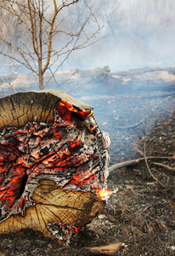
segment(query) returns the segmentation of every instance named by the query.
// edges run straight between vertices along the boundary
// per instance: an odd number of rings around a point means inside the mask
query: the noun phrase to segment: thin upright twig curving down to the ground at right
[[[147,166],[147,169],[150,173],[150,177],[152,177],[156,183],[159,183],[161,185],[161,187],[163,189],[166,189],[166,187],[152,174],[152,172],[150,171],[150,167],[148,164],[148,160],[146,157],[146,136],[147,136],[147,132],[148,132],[148,126],[149,126],[149,116],[150,116],[150,90],[149,90],[149,81],[147,81],[147,87],[148,87],[148,117],[147,117],[147,123],[146,123],[146,131],[145,131],[145,137],[144,137],[144,159],[145,159],[145,163]]]

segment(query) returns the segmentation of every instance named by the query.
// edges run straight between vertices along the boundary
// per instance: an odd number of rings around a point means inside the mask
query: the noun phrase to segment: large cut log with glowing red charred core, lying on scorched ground
[[[69,240],[104,208],[108,136],[60,90],[0,99],[0,233]]]

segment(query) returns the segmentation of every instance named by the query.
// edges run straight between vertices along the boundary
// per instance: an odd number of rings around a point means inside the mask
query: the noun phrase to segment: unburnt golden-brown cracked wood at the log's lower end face
[[[36,205],[26,209],[25,216],[13,215],[0,223],[0,233],[31,228],[53,237],[47,224],[61,222],[79,229],[104,208],[104,201],[91,192],[62,190],[49,180],[40,183],[32,196]]]

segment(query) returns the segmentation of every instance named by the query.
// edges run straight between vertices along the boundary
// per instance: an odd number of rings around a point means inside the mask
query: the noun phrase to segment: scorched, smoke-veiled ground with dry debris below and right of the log
[[[175,97],[173,94],[150,96],[146,137],[146,94],[144,97],[137,95],[134,100],[125,95],[117,101],[114,98],[100,101],[101,105],[110,106],[101,119],[97,114],[102,130],[110,132],[110,165],[143,157],[145,140],[146,155],[157,157],[149,160],[150,171],[164,188],[148,177],[144,161],[123,167],[110,173],[108,178],[109,188],[118,188],[118,192],[110,196],[101,215],[72,237],[69,247],[60,246],[58,241],[33,230],[22,230],[18,234],[0,235],[1,256],[93,255],[87,247],[117,241],[125,246],[116,255],[175,255]],[[122,116],[121,104],[124,110],[126,108]],[[97,113],[101,112],[98,104],[94,108]],[[109,112],[113,113],[112,118]],[[168,171],[155,162],[172,169]]]

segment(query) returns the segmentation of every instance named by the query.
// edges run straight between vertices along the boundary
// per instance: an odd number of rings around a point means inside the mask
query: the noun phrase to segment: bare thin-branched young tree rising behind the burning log
[[[14,61],[37,75],[40,90],[44,88],[47,70],[54,75],[72,51],[93,44],[93,38],[100,31],[93,8],[86,0],[52,0],[49,3],[46,0],[2,0],[0,4],[3,17],[0,54],[10,57],[10,49]],[[82,20],[77,15],[76,4],[84,8]],[[15,24],[14,36],[7,17]],[[58,61],[53,71],[51,67]]]

